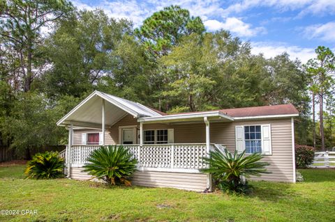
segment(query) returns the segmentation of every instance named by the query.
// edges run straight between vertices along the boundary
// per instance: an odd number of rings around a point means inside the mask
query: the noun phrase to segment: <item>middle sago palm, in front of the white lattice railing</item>
[[[123,146],[108,145],[94,150],[88,157],[88,164],[84,165],[84,172],[94,175],[108,184],[126,184],[135,171],[137,160]]]

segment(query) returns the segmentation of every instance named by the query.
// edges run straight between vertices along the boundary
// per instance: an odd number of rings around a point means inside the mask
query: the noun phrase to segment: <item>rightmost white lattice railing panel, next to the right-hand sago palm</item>
[[[205,168],[202,157],[206,157],[206,145],[174,145],[174,168]]]

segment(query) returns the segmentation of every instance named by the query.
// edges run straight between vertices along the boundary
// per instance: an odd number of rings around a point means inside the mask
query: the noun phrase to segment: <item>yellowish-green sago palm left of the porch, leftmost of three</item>
[[[58,152],[47,151],[37,153],[31,161],[28,161],[24,171],[27,178],[55,179],[64,177],[64,159],[61,159]]]

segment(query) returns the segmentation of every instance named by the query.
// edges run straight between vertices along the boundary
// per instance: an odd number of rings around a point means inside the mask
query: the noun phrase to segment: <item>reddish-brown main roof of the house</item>
[[[149,107],[150,108],[150,107]],[[152,108],[150,108],[152,109]],[[174,115],[174,114],[187,114],[187,113],[163,113],[156,109],[152,109],[161,115]],[[246,116],[272,116],[272,115],[288,115],[288,114],[298,114],[299,111],[295,109],[295,106],[292,104],[281,104],[281,105],[271,105],[271,106],[253,106],[253,107],[244,107],[244,108],[234,108],[234,109],[218,109],[211,111],[220,111],[223,114],[227,114],[231,117],[246,117]],[[209,111],[195,111],[188,113],[206,113]]]

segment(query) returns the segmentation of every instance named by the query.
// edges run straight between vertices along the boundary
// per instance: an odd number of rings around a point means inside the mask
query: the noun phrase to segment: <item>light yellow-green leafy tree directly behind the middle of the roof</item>
[[[163,73],[170,82],[162,95],[174,106],[172,112],[210,109],[211,92],[216,85],[211,76],[217,63],[211,54],[209,35],[201,42],[199,35],[192,34],[161,58]]]

